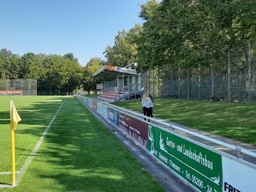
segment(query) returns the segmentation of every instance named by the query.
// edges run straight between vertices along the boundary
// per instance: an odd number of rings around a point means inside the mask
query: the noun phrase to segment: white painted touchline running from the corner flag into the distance
[[[66,97],[67,99],[67,97]],[[64,102],[66,101],[66,99],[64,100]],[[23,166],[20,169],[20,174],[17,175],[17,180],[16,180],[16,186],[18,186],[20,184],[20,181],[23,177],[23,175],[25,174],[26,170],[29,168],[30,163],[32,162],[33,158],[35,157],[35,154],[37,153],[38,149],[40,148],[44,137],[46,136],[49,128],[51,127],[52,123],[54,122],[56,116],[58,115],[59,111],[61,110],[62,105],[64,104],[64,102],[62,102],[61,106],[59,107],[58,111],[55,113],[55,115],[52,117],[52,120],[49,122],[47,128],[44,130],[44,133],[41,135],[38,143],[35,145],[35,148],[33,149],[33,151],[31,152],[31,154],[29,155],[29,157],[27,158],[27,160],[25,161],[25,163],[23,164]],[[15,187],[16,187],[15,186]],[[12,185],[0,185],[0,188],[11,188],[13,187]]]

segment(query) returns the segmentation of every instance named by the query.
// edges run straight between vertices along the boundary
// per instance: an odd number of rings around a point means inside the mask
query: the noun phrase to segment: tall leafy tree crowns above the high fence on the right
[[[148,0],[140,7],[143,27],[118,32],[105,51],[111,64],[207,65],[212,50],[255,37],[255,0]]]

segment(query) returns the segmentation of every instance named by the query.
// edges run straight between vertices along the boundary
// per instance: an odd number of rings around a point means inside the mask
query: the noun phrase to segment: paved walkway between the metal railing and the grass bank
[[[130,110],[130,109],[128,109],[128,110]],[[120,111],[122,111],[122,110],[120,110]],[[130,111],[132,111],[132,110],[130,110]],[[134,112],[138,113],[137,111],[134,111]],[[140,114],[143,114],[143,113],[140,113]],[[136,116],[136,115],[134,115],[134,114],[131,114],[131,115]],[[137,117],[140,118],[140,119],[143,119],[143,118],[140,117],[140,116],[137,116]],[[164,119],[160,119],[160,118],[155,118],[155,119],[158,119],[158,120],[160,120],[160,121],[163,121],[163,122],[166,122],[166,123],[170,123],[170,124],[173,124],[173,125],[177,125],[177,126],[179,126],[180,128],[184,128],[184,129],[187,129],[187,130],[189,130],[189,131],[193,131],[193,132],[195,132],[195,133],[198,133],[198,134],[201,134],[201,135],[204,135],[204,136],[207,136],[207,137],[211,137],[211,138],[213,138],[213,139],[215,139],[215,140],[219,140],[219,141],[222,141],[222,142],[225,142],[225,143],[229,143],[229,144],[231,144],[231,145],[236,145],[236,146],[245,148],[245,149],[247,149],[247,150],[256,152],[256,146],[253,146],[253,145],[250,145],[250,144],[247,144],[247,143],[243,143],[243,142],[240,142],[240,141],[232,140],[232,139],[229,139],[229,138],[227,138],[227,137],[222,137],[222,136],[219,136],[219,135],[216,135],[216,134],[208,133],[208,132],[206,132],[206,131],[201,131],[201,130],[198,130],[198,129],[195,129],[195,128],[191,128],[191,127],[188,127],[188,126],[185,126],[185,125],[181,125],[181,124],[179,124],[179,123],[167,121],[167,120],[164,120]],[[160,123],[157,123],[157,122],[154,122],[154,124],[159,125],[159,126],[161,126],[161,127],[163,127],[163,128],[166,128],[166,129],[170,129],[168,126],[165,126],[165,125],[160,124]],[[191,138],[191,139],[193,139],[193,140],[196,140],[196,141],[198,141],[198,142],[200,142],[200,143],[204,143],[205,145],[211,146],[211,147],[216,148],[216,149],[218,149],[218,150],[220,150],[220,151],[224,151],[224,152],[226,152],[226,153],[228,153],[228,154],[231,154],[231,155],[237,157],[237,152],[236,152],[236,151],[233,151],[233,150],[231,150],[231,149],[229,149],[229,148],[225,148],[225,147],[223,147],[223,146],[221,146],[221,145],[217,145],[217,144],[215,144],[215,143],[212,143],[212,142],[203,140],[203,139],[201,139],[201,138],[192,136],[192,135],[190,135],[190,134],[186,134],[186,133],[184,133],[184,132],[182,132],[182,131],[175,130],[175,132],[178,133],[178,134],[181,134],[181,135],[183,135],[183,136],[189,137],[189,138]],[[250,156],[247,156],[247,155],[243,155],[243,159],[246,160],[246,161],[248,161],[248,162],[250,162],[250,163],[256,164],[256,158],[254,158],[254,157],[250,157]]]

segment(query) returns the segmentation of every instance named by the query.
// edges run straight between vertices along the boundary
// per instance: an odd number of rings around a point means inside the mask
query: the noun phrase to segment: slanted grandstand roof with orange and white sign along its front
[[[116,67],[112,65],[104,65],[95,73],[93,73],[93,77],[97,77],[100,79],[116,79],[117,76],[132,76],[137,75],[136,70],[124,68],[124,67]]]

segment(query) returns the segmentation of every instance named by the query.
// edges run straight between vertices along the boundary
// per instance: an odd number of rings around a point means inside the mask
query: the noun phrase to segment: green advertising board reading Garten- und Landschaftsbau
[[[222,191],[220,154],[152,125],[148,151],[201,191]]]

